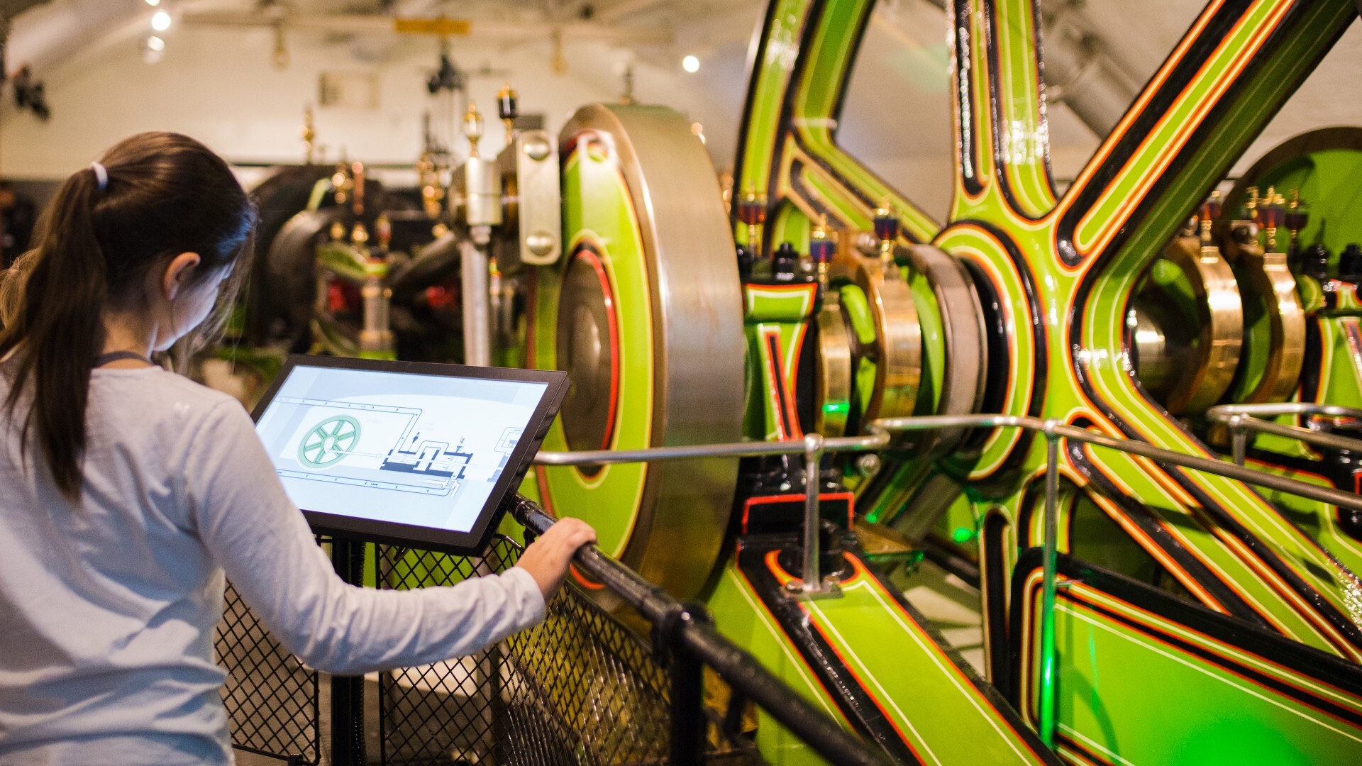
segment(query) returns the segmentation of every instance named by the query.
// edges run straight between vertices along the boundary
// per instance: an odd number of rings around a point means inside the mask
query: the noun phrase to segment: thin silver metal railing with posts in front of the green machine
[[[1254,405],[1257,406],[1257,405]],[[1347,408],[1329,408],[1321,414],[1335,414]],[[1343,417],[1351,413],[1362,416],[1359,410],[1347,410]],[[1267,424],[1275,425],[1275,424]],[[840,436],[824,439],[817,433],[810,433],[802,440],[783,442],[735,442],[726,444],[686,444],[677,447],[648,447],[643,450],[590,450],[577,453],[539,453],[534,462],[539,465],[603,465],[629,463],[650,461],[670,461],[703,457],[759,457],[759,455],[795,455],[804,454],[805,476],[812,478],[813,491],[805,492],[804,518],[804,571],[802,589],[805,593],[825,592],[821,572],[819,571],[819,493],[817,476],[819,461],[825,453],[865,453],[883,450],[889,446],[893,433],[907,431],[938,431],[945,428],[1023,428],[1038,431],[1046,438],[1045,450],[1045,532],[1043,532],[1043,568],[1041,579],[1041,684],[1039,684],[1039,726],[1038,733],[1047,744],[1054,741],[1054,691],[1056,691],[1056,653],[1054,653],[1054,570],[1058,556],[1060,511],[1058,511],[1058,462],[1060,439],[1072,439],[1095,447],[1106,447],[1118,453],[1129,453],[1148,458],[1160,465],[1175,465],[1205,473],[1237,478],[1245,484],[1267,487],[1279,492],[1323,500],[1335,506],[1362,511],[1362,496],[1351,492],[1342,492],[1327,487],[1317,487],[1305,481],[1287,478],[1273,473],[1254,470],[1242,465],[1230,463],[1200,455],[1188,455],[1155,447],[1147,442],[1120,439],[1106,436],[1096,431],[1064,425],[1057,418],[1039,418],[1012,414],[932,414],[914,417],[887,417],[872,421],[866,425],[866,436]],[[1287,427],[1282,427],[1287,428]],[[1299,429],[1306,431],[1306,429]],[[1308,433],[1316,433],[1306,431]],[[1340,439],[1336,438],[1335,439]],[[1355,448],[1355,447],[1354,447]],[[599,555],[599,552],[597,552]],[[602,559],[605,559],[602,556]],[[610,562],[610,559],[605,559]],[[621,564],[616,563],[620,568]],[[632,577],[632,571],[624,570]],[[652,587],[652,586],[648,586]],[[712,631],[712,628],[711,628]],[[722,675],[722,673],[720,673]],[[801,731],[801,729],[794,729]],[[810,743],[812,744],[812,743]],[[820,751],[821,752],[821,751]]]

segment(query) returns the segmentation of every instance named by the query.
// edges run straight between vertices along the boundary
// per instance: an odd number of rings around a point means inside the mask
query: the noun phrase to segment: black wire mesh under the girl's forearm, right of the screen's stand
[[[454,585],[518,556],[504,537],[484,559],[380,545],[379,583]],[[670,676],[647,643],[572,586],[535,628],[462,661],[383,673],[380,694],[383,756],[392,766],[614,766],[667,756]]]

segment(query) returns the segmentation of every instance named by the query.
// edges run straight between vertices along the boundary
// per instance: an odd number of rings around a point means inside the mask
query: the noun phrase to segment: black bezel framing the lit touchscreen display
[[[336,369],[360,369],[368,372],[396,372],[407,375],[432,375],[439,378],[474,378],[481,380],[505,380],[512,383],[543,383],[546,384],[543,397],[526,423],[524,433],[511,450],[507,458],[507,469],[501,472],[497,482],[492,487],[486,504],[478,512],[478,521],[469,532],[455,532],[433,526],[418,526],[410,523],[387,522],[357,517],[343,517],[298,508],[308,519],[312,530],[330,537],[361,540],[365,542],[384,542],[391,545],[406,545],[459,556],[479,556],[488,545],[492,533],[496,532],[503,512],[503,499],[507,492],[515,491],[524,478],[534,454],[539,451],[539,444],[549,433],[553,418],[563,406],[563,397],[568,393],[568,373],[548,369],[522,369],[513,367],[467,367],[462,364],[433,364],[424,361],[390,361],[376,358],[331,357],[311,354],[289,354],[279,368],[274,382],[260,397],[260,402],[251,412],[251,420],[259,423],[260,416],[274,402],[279,387],[287,380],[296,367],[328,367]]]

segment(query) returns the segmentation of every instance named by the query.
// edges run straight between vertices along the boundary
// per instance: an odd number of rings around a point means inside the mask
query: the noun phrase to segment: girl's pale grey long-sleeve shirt
[[[8,391],[0,376],[0,402]],[[407,592],[343,583],[221,393],[95,369],[86,421],[72,506],[37,444],[20,457],[22,417],[0,413],[0,766],[230,763],[212,658],[223,572],[334,673],[448,660],[543,617],[520,568]]]

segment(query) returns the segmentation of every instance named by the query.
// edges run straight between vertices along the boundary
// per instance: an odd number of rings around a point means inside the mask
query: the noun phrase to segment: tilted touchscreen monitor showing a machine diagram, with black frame
[[[253,417],[317,532],[478,553],[567,375],[293,356]]]

